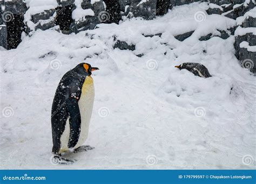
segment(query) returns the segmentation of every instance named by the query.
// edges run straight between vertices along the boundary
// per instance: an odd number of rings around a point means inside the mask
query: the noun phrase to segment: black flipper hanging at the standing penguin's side
[[[75,147],[80,136],[81,130],[81,115],[78,106],[78,99],[76,97],[70,97],[67,101],[67,108],[69,112],[69,124],[70,124],[70,136],[68,147]]]

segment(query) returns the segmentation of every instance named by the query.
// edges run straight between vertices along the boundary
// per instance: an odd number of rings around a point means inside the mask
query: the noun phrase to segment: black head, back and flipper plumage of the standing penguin
[[[79,109],[77,109],[77,104],[81,95],[81,89],[85,78],[90,76],[91,72],[96,69],[98,68],[91,67],[88,63],[80,63],[75,68],[65,73],[58,84],[51,110],[52,152],[54,154],[59,153],[60,137],[64,132],[68,117],[72,116],[70,121],[73,121],[72,124],[74,126],[80,124],[80,112]],[[78,130],[79,126],[74,127],[74,129]],[[76,138],[73,138],[73,140],[76,140],[79,134],[72,134],[71,136],[76,136]],[[76,141],[73,141],[70,143],[70,147],[73,147],[75,144]]]

